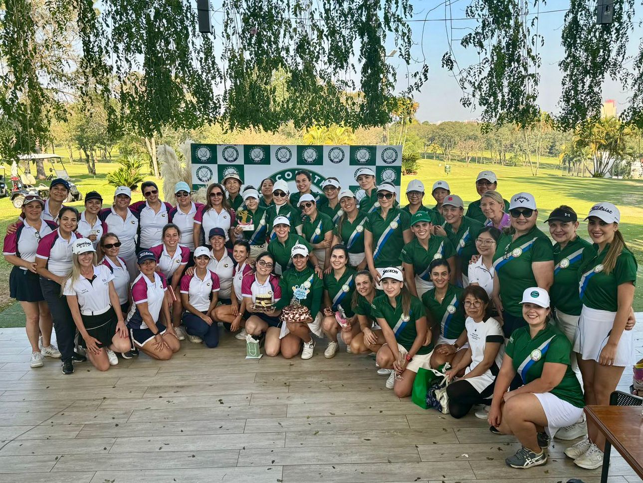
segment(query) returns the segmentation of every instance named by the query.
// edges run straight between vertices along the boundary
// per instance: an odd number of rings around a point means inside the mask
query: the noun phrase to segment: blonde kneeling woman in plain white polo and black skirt
[[[93,243],[76,240],[72,247],[71,274],[64,283],[73,321],[84,340],[89,361],[100,371],[118,364],[116,352],[129,350],[129,334],[123,322],[114,275],[98,265]]]

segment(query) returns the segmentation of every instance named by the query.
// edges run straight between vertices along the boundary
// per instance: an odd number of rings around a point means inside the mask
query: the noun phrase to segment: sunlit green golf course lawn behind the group
[[[536,196],[539,207],[539,220],[545,220],[552,209],[561,204],[570,205],[577,213],[584,215],[590,207],[598,201],[609,201],[617,205],[621,212],[622,230],[629,248],[634,252],[639,262],[638,287],[643,286],[643,181],[641,180],[601,180],[590,178],[570,178],[560,176],[560,169],[555,160],[546,159],[541,164],[540,175],[536,178],[531,176],[529,167],[492,166],[489,164],[471,163],[466,166],[463,162],[450,162],[451,173],[444,174],[444,162],[437,160],[421,160],[420,168],[415,176],[403,176],[402,192],[406,185],[413,178],[418,178],[430,191],[433,182],[439,179],[446,179],[451,186],[451,193],[462,196],[467,202],[478,199],[475,190],[475,177],[483,169],[493,169],[498,175],[498,191],[505,198],[519,191],[529,191]],[[82,193],[96,190],[104,198],[105,206],[109,205],[114,187],[107,184],[105,175],[116,169],[118,164],[98,163],[96,164],[96,176],[87,175],[87,168],[84,164],[67,164],[68,173],[78,185]],[[157,180],[162,189],[163,180]],[[135,192],[133,201],[143,199],[140,192]],[[406,197],[403,195],[403,204],[406,204]],[[424,198],[425,205],[433,205],[433,198],[427,194]],[[82,207],[82,202],[72,204]],[[8,198],[0,199],[0,233],[5,233],[6,226],[17,218],[18,211],[14,209]],[[545,225],[543,224],[543,229]],[[587,237],[584,223],[581,223],[581,236]],[[4,238],[4,236],[3,236]],[[8,296],[8,280],[10,265],[4,259],[0,260],[0,310],[12,304]],[[643,311],[643,289],[637,289],[634,308]],[[19,305],[12,307],[0,314],[0,327],[11,327],[24,325],[24,316]]]

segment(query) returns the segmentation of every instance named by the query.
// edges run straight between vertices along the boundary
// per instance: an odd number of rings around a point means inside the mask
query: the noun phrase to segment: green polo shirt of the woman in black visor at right
[[[575,290],[578,283],[578,270],[581,268],[583,251],[591,248],[592,243],[576,236],[561,249],[554,243],[554,284],[549,289],[552,307],[570,316],[581,315],[581,298]]]

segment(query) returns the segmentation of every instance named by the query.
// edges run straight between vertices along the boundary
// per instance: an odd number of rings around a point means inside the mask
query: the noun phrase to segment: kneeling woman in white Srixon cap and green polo
[[[426,343],[426,314],[419,298],[404,287],[402,270],[382,270],[384,295],[374,299],[372,314],[382,328],[386,344],[377,351],[377,364],[393,369],[386,388],[397,397],[407,397],[419,368],[429,368],[433,345]],[[425,345],[426,344],[426,345]]]

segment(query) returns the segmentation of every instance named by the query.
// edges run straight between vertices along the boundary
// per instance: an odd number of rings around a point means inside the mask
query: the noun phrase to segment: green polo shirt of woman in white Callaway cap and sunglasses
[[[509,314],[522,318],[522,294],[525,289],[538,285],[531,264],[553,260],[552,242],[535,226],[516,240],[511,242],[511,238],[506,238],[505,243],[498,245],[493,267],[500,281],[503,308]]]

